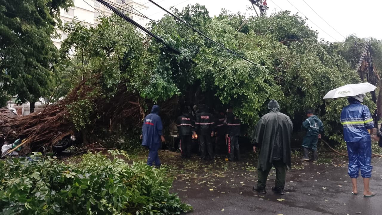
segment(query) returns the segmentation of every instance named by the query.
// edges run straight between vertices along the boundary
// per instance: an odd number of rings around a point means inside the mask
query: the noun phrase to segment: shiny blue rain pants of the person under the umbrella
[[[362,178],[370,178],[373,166],[371,166],[371,138],[362,138],[359,142],[346,142],[349,155],[349,176],[358,178],[361,170]]]

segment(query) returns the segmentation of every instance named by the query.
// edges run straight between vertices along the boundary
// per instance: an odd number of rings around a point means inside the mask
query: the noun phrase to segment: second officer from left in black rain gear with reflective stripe
[[[201,105],[199,112],[196,114],[194,135],[197,134],[199,137],[201,159],[204,160],[214,159],[214,149],[212,147],[211,138],[214,136],[214,124],[214,116],[207,112],[205,105]]]

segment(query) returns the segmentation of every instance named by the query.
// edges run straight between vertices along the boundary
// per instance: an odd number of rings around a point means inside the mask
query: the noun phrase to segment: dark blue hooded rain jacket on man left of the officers
[[[154,105],[151,114],[144,118],[142,125],[142,146],[150,150],[159,150],[161,147],[160,136],[163,135],[162,119],[160,119],[159,106]]]

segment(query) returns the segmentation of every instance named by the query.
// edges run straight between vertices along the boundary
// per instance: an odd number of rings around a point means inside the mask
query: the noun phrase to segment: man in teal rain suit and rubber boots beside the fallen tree
[[[304,157],[301,161],[309,161],[309,150],[313,151],[313,161],[317,161],[317,143],[324,131],[324,124],[317,116],[314,116],[313,110],[309,109],[305,114],[308,118],[301,126],[301,129],[306,130],[303,139]]]

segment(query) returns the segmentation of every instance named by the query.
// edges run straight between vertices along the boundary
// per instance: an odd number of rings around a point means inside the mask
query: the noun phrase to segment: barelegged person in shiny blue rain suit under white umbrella
[[[371,137],[367,129],[374,128],[374,121],[367,106],[361,104],[365,94],[348,98],[349,105],[342,109],[341,123],[343,137],[348,147],[349,169],[348,173],[353,184],[353,195],[358,194],[357,178],[361,170],[364,184],[364,197],[372,197],[374,193],[369,190],[371,178]]]

